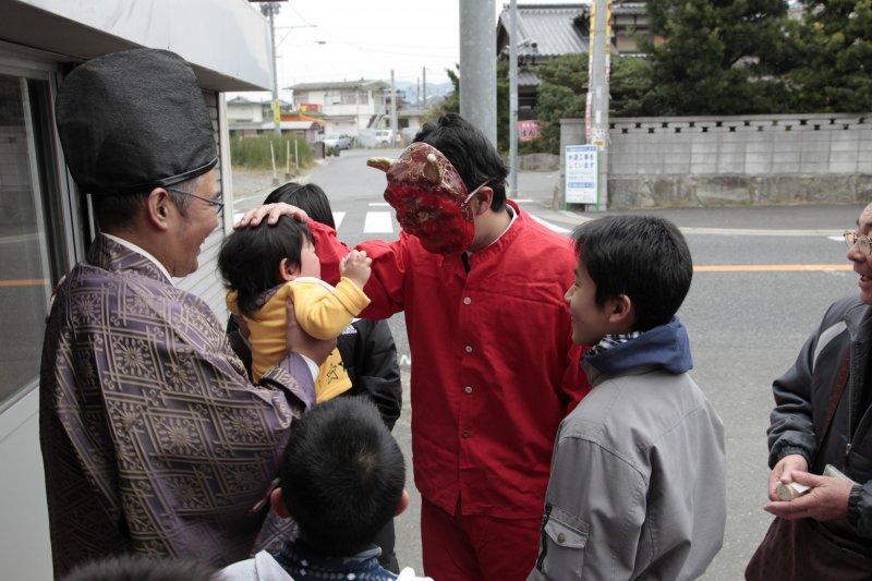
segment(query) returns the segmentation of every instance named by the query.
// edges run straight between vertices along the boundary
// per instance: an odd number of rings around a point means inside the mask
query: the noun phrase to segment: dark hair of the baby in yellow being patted
[[[312,232],[289,216],[279,218],[275,226],[264,220],[225,239],[218,269],[227,288],[237,291],[237,305],[242,313],[254,314],[261,306],[258,296],[281,282],[278,271],[282,258],[300,265],[303,241],[314,243]]]

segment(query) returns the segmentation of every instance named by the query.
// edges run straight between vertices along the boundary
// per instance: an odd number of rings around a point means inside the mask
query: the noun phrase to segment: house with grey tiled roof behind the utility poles
[[[588,52],[590,5],[518,4],[518,119],[534,118],[541,83],[535,68],[554,57]],[[650,37],[645,1],[613,4],[613,55],[643,56],[638,38]],[[509,58],[509,9],[499,14],[497,56]],[[579,87],[581,90],[581,87]]]

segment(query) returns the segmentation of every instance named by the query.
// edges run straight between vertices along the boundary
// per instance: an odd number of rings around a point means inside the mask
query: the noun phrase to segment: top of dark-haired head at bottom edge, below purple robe
[[[119,555],[80,565],[63,581],[209,581],[216,572],[193,560]]]

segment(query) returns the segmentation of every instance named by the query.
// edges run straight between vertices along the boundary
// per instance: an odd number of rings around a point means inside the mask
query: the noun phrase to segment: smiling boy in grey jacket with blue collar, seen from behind
[[[566,293],[592,390],[560,424],[529,579],[694,579],[726,522],[724,425],[687,374],[675,316],[693,266],[662,218],[610,216],[573,232]]]

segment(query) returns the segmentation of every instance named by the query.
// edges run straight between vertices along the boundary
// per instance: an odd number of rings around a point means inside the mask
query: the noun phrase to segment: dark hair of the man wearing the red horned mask
[[[421,128],[413,141],[429,144],[441,152],[470,192],[487,183],[494,190],[491,209],[499,211],[504,208],[509,170],[494,145],[475,125],[457,113],[447,113]]]

